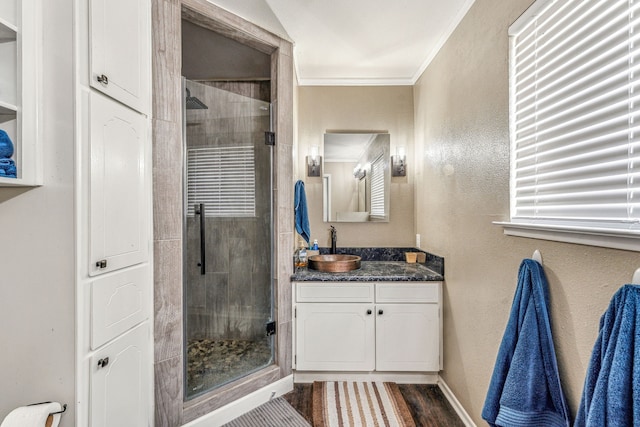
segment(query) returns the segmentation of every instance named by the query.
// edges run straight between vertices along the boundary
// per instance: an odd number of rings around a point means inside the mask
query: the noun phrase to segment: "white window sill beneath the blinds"
[[[494,221],[508,236],[552,240],[578,245],[599,246],[640,252],[640,233],[629,230],[609,230],[591,227],[552,226]]]

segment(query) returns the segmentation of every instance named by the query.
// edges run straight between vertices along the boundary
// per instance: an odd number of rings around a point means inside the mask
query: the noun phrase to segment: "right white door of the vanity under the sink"
[[[376,306],[376,370],[440,370],[437,304]]]

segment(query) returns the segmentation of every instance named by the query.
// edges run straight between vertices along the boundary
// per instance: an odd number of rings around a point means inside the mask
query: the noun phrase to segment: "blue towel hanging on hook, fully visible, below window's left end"
[[[482,418],[500,427],[568,427],[542,266],[525,259]]]

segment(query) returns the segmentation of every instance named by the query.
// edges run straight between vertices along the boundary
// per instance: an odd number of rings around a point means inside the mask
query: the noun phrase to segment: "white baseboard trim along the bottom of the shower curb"
[[[269,400],[282,396],[293,390],[293,375],[282,378],[266,387],[256,390],[251,394],[241,397],[222,408],[209,412],[206,415],[184,424],[183,427],[217,427],[238,418],[252,409],[257,408]]]

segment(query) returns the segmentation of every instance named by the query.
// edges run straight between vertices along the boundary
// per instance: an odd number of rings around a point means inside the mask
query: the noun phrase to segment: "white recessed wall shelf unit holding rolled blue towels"
[[[38,132],[42,26],[36,4],[35,0],[0,2],[0,129],[13,143],[10,160],[17,169],[15,178],[0,173],[0,187],[42,185]],[[0,165],[6,160],[0,157]]]

